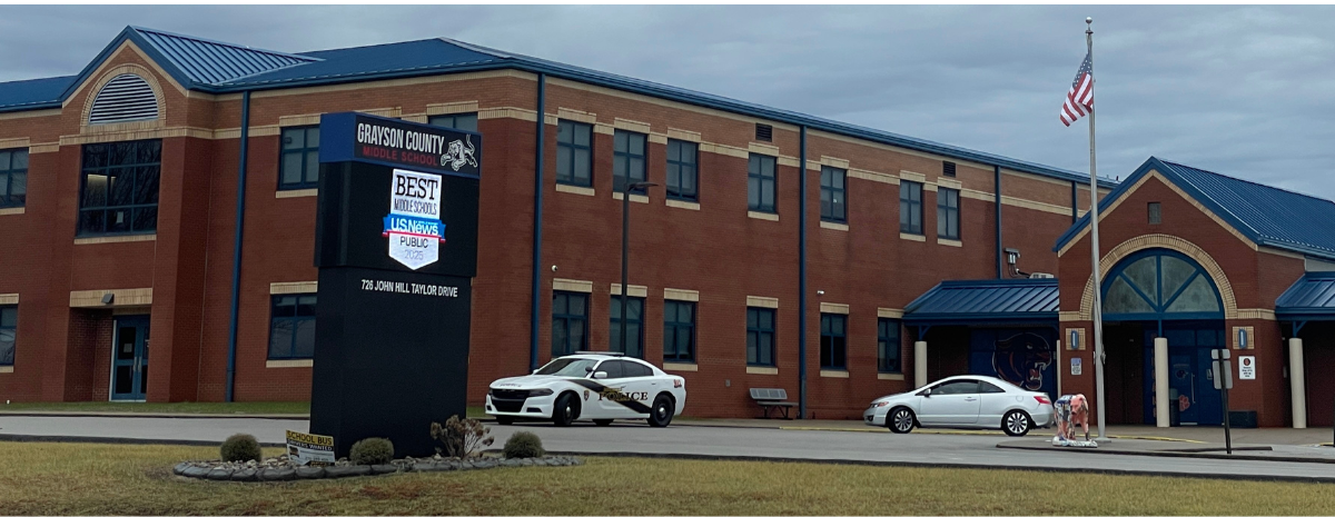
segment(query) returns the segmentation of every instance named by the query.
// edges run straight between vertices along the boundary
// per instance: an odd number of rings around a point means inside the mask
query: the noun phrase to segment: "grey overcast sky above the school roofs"
[[[1335,199],[1330,7],[0,7],[0,81],[125,25],[302,52],[447,36],[1088,173],[1057,119],[1095,19],[1099,173],[1147,157]]]

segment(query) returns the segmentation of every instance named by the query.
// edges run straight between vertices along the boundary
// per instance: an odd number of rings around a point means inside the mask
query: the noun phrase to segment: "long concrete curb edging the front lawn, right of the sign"
[[[1096,450],[1096,449],[1087,449],[1087,450]],[[1179,478],[1195,478],[1195,480],[1228,480],[1228,481],[1283,481],[1283,482],[1314,482],[1314,484],[1335,482],[1335,478],[1316,478],[1316,477],[1299,477],[1299,476],[1290,477],[1290,476],[1274,476],[1274,474],[1187,473],[1187,472],[1156,472],[1156,470],[1132,472],[1132,470],[1100,469],[1100,468],[1085,468],[1085,466],[1059,468],[1059,466],[1013,466],[1013,465],[979,465],[979,464],[925,464],[925,462],[888,461],[888,460],[814,460],[814,458],[785,458],[785,457],[768,457],[768,456],[709,456],[709,454],[690,454],[690,453],[627,453],[627,452],[570,452],[570,450],[547,450],[547,453],[559,456],[582,456],[582,457],[794,462],[794,464],[860,465],[860,466],[901,466],[901,468],[918,468],[918,469],[1027,470],[1027,472],[1049,472],[1057,474],[1087,473],[1087,474],[1141,476],[1141,477],[1163,476],[1163,477],[1179,477]]]

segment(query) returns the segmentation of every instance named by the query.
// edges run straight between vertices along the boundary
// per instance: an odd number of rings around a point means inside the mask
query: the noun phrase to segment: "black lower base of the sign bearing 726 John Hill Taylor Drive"
[[[320,268],[311,433],[338,457],[368,437],[437,453],[431,422],[465,417],[471,278]]]

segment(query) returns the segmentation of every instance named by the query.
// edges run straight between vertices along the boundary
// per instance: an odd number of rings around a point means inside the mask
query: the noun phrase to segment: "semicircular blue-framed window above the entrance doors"
[[[1103,284],[1103,313],[1111,320],[1222,318],[1219,289],[1196,261],[1168,249],[1135,253]]]

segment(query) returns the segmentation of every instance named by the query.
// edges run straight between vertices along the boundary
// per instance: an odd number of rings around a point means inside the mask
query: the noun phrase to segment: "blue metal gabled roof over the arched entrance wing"
[[[1149,171],[1159,171],[1258,245],[1335,260],[1335,203],[1152,156],[1099,203],[1099,211],[1116,203]],[[1088,224],[1085,215],[1053,249],[1061,249]]]

